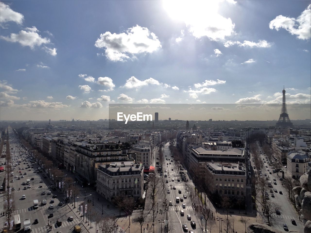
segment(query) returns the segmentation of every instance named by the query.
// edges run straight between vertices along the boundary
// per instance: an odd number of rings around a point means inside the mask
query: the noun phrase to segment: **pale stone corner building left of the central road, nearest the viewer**
[[[144,166],[134,162],[115,162],[99,166],[97,169],[96,191],[111,201],[114,197],[142,197],[144,186]]]

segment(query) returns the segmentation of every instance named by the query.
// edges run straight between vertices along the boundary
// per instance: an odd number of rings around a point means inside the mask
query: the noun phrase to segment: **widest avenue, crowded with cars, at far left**
[[[16,168],[13,170],[14,175],[12,176],[12,180],[14,182],[10,182],[10,187],[15,188],[14,192],[14,200],[15,200],[15,210],[13,212],[13,215],[20,215],[21,219],[21,231],[23,229],[23,220],[29,218],[31,225],[31,230],[34,233],[42,233],[43,231],[48,231],[48,223],[52,225],[52,230],[50,232],[56,232],[56,231],[64,231],[64,232],[71,232],[75,225],[81,225],[81,218],[77,217],[75,215],[75,212],[73,212],[68,205],[62,205],[59,206],[58,203],[61,202],[61,199],[52,198],[53,194],[58,195],[58,192],[55,190],[53,191],[51,189],[51,182],[49,178],[44,178],[44,173],[35,173],[36,167],[38,167],[35,163],[31,164],[33,168],[27,168],[27,165],[30,165],[30,162],[27,162],[26,160],[30,160],[30,155],[27,153],[27,151],[22,147],[19,140],[16,138],[16,136],[13,134],[12,129],[9,130],[9,140],[10,140],[10,152],[11,152],[11,161],[15,160],[17,162],[17,159],[24,159],[23,162],[20,163],[20,165],[17,165]],[[13,149],[11,149],[13,148]],[[24,157],[22,157],[24,156]],[[25,164],[24,164],[25,163]],[[28,163],[28,164],[26,164]],[[19,170],[18,167],[21,167],[21,170]],[[24,169],[23,169],[24,168]],[[20,172],[24,174],[26,172],[26,175],[18,175]],[[20,180],[18,180],[17,177],[22,177]],[[22,185],[23,182],[26,183],[26,179],[34,178],[34,180],[30,180],[30,188],[27,188],[24,190],[24,187],[27,187],[27,185]],[[42,180],[42,181],[41,181]],[[10,178],[11,181],[11,178]],[[41,182],[40,182],[41,181]],[[40,188],[40,185],[42,185],[42,188]],[[21,190],[18,190],[18,189]],[[42,192],[45,191],[46,194],[42,194]],[[47,193],[51,191],[51,194],[47,195]],[[22,195],[26,195],[26,199],[22,199]],[[33,200],[38,199],[39,201],[39,208],[34,209],[33,207]],[[43,199],[46,199],[47,203],[45,205],[41,205],[41,201]],[[0,197],[1,203],[3,203],[3,194]],[[54,202],[54,203],[51,203]],[[54,208],[49,208],[49,205],[53,204]],[[3,206],[1,207],[1,211],[3,212]],[[53,217],[48,218],[49,214],[53,213]],[[68,221],[68,217],[72,216],[73,221]],[[38,219],[39,223],[35,224],[35,219]],[[61,226],[56,225],[56,221],[60,219],[62,221]],[[3,226],[5,217],[1,217],[0,224]],[[81,230],[86,232],[86,229],[81,225]]]

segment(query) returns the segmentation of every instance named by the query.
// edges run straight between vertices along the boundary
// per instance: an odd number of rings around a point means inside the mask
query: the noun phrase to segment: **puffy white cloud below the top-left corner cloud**
[[[0,38],[9,42],[18,42],[22,46],[29,46],[31,49],[35,48],[35,46],[51,43],[49,38],[42,38],[38,32],[39,30],[33,26],[32,28],[21,30],[19,34],[11,33],[10,37],[0,36]]]

